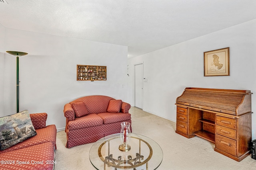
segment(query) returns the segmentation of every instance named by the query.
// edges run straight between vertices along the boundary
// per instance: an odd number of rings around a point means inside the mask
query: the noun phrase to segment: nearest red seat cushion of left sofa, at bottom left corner
[[[52,170],[56,163],[50,142],[5,152],[0,157],[8,163],[0,164],[1,170]]]

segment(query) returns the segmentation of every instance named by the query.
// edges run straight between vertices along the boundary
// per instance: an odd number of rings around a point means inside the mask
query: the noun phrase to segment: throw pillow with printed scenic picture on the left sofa
[[[1,150],[7,149],[36,135],[28,110],[0,117]]]

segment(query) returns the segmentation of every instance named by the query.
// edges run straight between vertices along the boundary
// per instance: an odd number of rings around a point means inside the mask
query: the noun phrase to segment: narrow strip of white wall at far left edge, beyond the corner
[[[4,112],[4,36],[5,28],[0,24],[0,113]]]

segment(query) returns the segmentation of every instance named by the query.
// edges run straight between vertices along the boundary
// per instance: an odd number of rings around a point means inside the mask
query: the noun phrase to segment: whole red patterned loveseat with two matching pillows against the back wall
[[[122,122],[132,123],[128,113],[130,107],[128,103],[108,96],[84,96],[65,104],[66,147],[93,143],[107,135],[120,133]]]

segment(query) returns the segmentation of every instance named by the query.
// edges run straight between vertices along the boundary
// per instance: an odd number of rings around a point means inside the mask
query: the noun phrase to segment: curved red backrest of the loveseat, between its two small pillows
[[[84,96],[70,102],[70,104],[72,105],[75,102],[84,102],[89,113],[97,114],[107,112],[110,100],[114,100],[114,98],[108,96]]]

